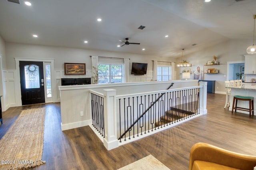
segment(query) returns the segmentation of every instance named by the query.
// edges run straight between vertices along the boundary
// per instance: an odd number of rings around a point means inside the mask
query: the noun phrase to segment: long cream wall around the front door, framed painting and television
[[[149,55],[136,55],[129,53],[114,53],[109,51],[95,51],[95,50],[86,50],[86,49],[75,49],[67,47],[51,47],[43,45],[29,45],[29,44],[20,44],[20,43],[5,43],[6,49],[6,65],[7,71],[10,73],[10,77],[6,74],[6,86],[8,89],[8,106],[20,106],[20,98],[17,98],[17,92],[20,90],[17,89],[20,84],[16,73],[15,58],[24,58],[24,59],[54,59],[54,87],[52,92],[54,96],[54,102],[60,102],[60,92],[58,86],[61,85],[61,78],[79,78],[86,77],[89,78],[92,76],[92,62],[90,56],[102,56],[102,57],[118,57],[118,58],[129,58],[130,59],[130,69],[132,67],[132,62],[138,63],[148,63],[148,71],[146,75],[143,76],[134,76],[130,74],[129,82],[145,82],[152,79],[152,60],[168,61],[173,62],[174,59],[158,57],[158,56],[149,56]],[[86,75],[82,76],[66,76],[64,75],[64,63],[86,63]],[[13,77],[14,75],[14,77]],[[16,85],[16,88],[14,86]]]

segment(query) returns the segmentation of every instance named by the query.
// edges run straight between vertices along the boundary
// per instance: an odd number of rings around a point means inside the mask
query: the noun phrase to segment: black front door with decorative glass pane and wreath
[[[45,103],[43,62],[20,61],[22,105]]]

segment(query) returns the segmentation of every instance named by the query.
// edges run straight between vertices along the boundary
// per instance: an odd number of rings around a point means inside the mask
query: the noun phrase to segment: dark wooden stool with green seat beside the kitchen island
[[[249,101],[249,109],[247,108],[243,108],[243,107],[237,107],[237,101],[238,100],[244,100],[244,101]],[[236,106],[234,107],[236,102]],[[254,115],[254,104],[253,104],[253,97],[251,96],[234,96],[233,98],[233,106],[232,106],[232,113],[233,110],[244,110],[244,111],[249,111],[250,112],[250,117],[251,117],[251,113],[252,115]]]

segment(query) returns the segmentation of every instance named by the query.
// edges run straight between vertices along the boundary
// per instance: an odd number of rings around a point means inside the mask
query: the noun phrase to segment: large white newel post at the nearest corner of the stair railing
[[[104,94],[104,146],[111,150],[118,147],[116,123],[116,90],[103,90]]]

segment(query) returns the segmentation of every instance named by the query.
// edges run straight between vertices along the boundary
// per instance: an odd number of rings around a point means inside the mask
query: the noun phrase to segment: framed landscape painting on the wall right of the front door
[[[85,63],[64,63],[65,75],[85,75]]]

